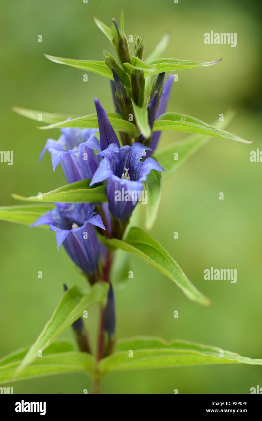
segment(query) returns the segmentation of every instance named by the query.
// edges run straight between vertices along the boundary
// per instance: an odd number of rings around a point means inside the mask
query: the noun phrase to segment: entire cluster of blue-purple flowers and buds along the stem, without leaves
[[[104,57],[113,76],[111,88],[115,111],[139,128],[134,107],[142,107],[144,104],[144,73],[134,68],[128,74],[124,66],[131,65],[134,57],[138,61],[142,60],[143,39],[136,37],[131,60],[123,28],[120,29],[115,20],[112,34],[119,61],[106,51]],[[165,84],[164,78],[164,72],[157,75],[148,94],[149,137],[140,131],[135,138],[121,131],[118,136],[100,101],[94,99],[98,129],[64,127],[57,141],[47,139],[39,157],[42,160],[45,151],[48,151],[53,170],[60,163],[68,183],[88,179],[89,188],[106,184],[107,203],[56,203],[55,208],[48,210],[32,224],[49,225],[50,230],[55,232],[58,249],[63,244],[68,256],[91,284],[97,280],[109,281],[112,252],[105,248],[100,236],[122,238],[150,171],[164,171],[152,157],[160,138],[159,131],[152,132],[153,125],[166,110],[173,82],[173,76],[168,77]],[[131,120],[129,116],[132,116]],[[115,310],[111,284],[103,318],[105,344],[102,354],[105,356],[111,352],[114,343]],[[81,319],[73,328],[82,344],[83,335],[80,333],[84,331],[84,325]]]

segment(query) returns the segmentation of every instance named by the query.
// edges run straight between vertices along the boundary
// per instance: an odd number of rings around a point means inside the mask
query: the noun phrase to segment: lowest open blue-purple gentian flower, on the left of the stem
[[[99,261],[105,260],[105,248],[97,239],[94,226],[105,229],[94,204],[56,203],[56,207],[40,216],[31,226],[49,225],[55,232],[58,250],[63,244],[66,252],[94,282],[99,272]]]

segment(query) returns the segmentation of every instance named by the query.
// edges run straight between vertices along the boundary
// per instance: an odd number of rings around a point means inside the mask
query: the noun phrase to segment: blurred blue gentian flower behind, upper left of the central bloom
[[[39,160],[42,160],[48,150],[52,157],[53,170],[61,163],[68,183],[91,179],[99,163],[87,142],[89,139],[96,139],[96,131],[97,129],[62,128],[62,136],[58,141],[47,139]]]

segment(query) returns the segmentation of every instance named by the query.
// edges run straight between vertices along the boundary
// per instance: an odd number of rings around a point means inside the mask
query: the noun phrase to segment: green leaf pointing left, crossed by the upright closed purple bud
[[[136,136],[137,129],[133,123],[130,121],[123,120],[123,118],[117,113],[107,113],[107,117],[112,124],[114,130],[119,130],[125,133],[130,134],[131,136]],[[39,127],[42,130],[61,128],[61,127],[78,127],[80,129],[84,128],[98,128],[98,121],[96,114],[84,115],[84,117],[73,118],[72,120],[61,121],[60,123],[51,124],[49,126]]]

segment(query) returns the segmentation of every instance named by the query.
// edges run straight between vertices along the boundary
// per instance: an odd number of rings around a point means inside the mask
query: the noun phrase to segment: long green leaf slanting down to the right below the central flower
[[[186,274],[162,245],[142,229],[132,227],[125,241],[116,238],[107,239],[102,235],[99,235],[99,238],[107,247],[128,251],[155,267],[175,282],[190,300],[203,305],[210,304],[210,301],[189,281]]]

